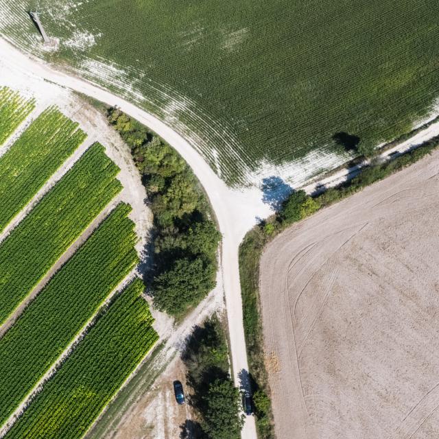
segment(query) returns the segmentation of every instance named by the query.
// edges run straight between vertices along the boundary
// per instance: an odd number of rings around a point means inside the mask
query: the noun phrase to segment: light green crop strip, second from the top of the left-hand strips
[[[29,202],[86,134],[54,107],[45,110],[0,157],[0,230]]]

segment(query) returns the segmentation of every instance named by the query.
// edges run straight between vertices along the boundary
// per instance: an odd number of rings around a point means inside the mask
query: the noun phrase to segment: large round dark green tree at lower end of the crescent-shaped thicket
[[[214,274],[213,265],[204,267],[200,258],[178,259],[171,270],[154,278],[154,305],[174,315],[183,313],[215,287]]]

